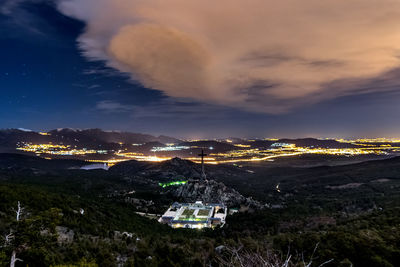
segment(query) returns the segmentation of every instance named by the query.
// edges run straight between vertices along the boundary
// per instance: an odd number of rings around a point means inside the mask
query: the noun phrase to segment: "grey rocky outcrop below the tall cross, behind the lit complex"
[[[171,188],[169,192],[182,199],[183,202],[201,200],[205,203],[223,203],[229,207],[245,205],[260,208],[262,206],[252,198],[246,198],[236,190],[214,180],[190,180],[183,186]]]

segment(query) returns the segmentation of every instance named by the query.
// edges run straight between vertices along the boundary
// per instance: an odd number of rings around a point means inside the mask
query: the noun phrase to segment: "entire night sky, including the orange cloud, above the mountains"
[[[0,0],[0,128],[400,137],[399,1],[195,2]]]

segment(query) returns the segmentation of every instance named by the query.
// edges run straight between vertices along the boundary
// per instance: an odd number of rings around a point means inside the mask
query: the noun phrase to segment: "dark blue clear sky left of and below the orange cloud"
[[[395,87],[278,115],[179,102],[87,61],[76,43],[84,26],[43,2],[0,15],[0,128],[97,127],[192,138],[400,136]]]

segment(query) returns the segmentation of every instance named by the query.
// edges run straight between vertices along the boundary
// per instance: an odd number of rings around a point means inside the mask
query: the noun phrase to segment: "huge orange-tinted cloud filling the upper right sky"
[[[282,113],[363,93],[365,81],[400,67],[398,0],[61,0],[58,7],[87,23],[78,40],[87,58],[168,96],[212,105]]]

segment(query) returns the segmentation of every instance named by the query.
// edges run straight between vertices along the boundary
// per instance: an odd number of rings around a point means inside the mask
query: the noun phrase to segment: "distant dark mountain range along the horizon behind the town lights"
[[[299,139],[279,139],[279,140],[246,140],[240,138],[230,138],[230,142],[225,139],[219,140],[201,140],[201,141],[182,141],[170,136],[153,136],[150,134],[131,133],[122,131],[104,131],[101,129],[71,129],[59,128],[45,133],[30,131],[27,129],[3,129],[0,130],[0,148],[15,148],[18,142],[31,143],[63,143],[76,145],[78,147],[109,146],[110,144],[145,144],[158,143],[159,145],[174,143],[180,145],[213,147],[217,150],[229,150],[234,148],[235,144],[245,144],[254,148],[270,147],[274,143],[296,144],[303,147],[330,147],[343,148],[354,147],[349,143],[337,142],[335,140],[321,140],[316,138]],[[233,140],[233,141],[232,141]]]

